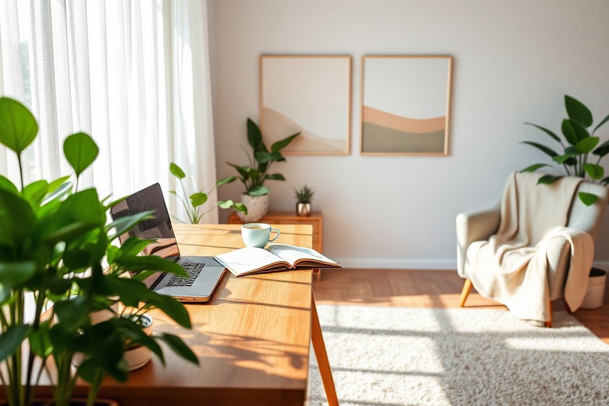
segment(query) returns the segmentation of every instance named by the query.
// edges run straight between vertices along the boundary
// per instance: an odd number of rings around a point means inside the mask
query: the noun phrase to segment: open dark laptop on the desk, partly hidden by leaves
[[[188,273],[188,279],[165,272],[158,272],[144,280],[148,289],[161,295],[169,295],[185,302],[206,302],[220,283],[225,268],[213,257],[181,256],[174,230],[167,212],[161,185],[158,183],[132,194],[110,209],[112,219],[152,210],[155,218],[145,220],[128,233],[119,236],[124,243],[131,236],[155,239],[145,249],[146,255],[158,255],[180,264]]]

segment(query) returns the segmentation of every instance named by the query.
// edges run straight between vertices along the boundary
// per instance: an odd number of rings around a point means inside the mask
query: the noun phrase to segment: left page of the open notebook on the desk
[[[225,254],[215,256],[220,264],[224,265],[234,276],[241,276],[247,273],[255,273],[264,268],[278,268],[276,265],[283,264],[289,267],[285,261],[276,257],[267,250],[255,247],[240,248]]]

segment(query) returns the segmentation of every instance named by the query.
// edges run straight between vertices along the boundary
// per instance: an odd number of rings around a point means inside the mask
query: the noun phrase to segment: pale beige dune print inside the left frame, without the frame
[[[345,155],[349,149],[351,58],[262,55],[261,130],[269,144],[300,131],[282,152]]]

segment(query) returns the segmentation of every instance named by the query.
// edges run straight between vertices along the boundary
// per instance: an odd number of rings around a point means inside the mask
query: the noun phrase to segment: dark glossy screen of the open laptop
[[[171,226],[171,219],[169,218],[169,212],[167,212],[160,184],[155,183],[146,187],[146,189],[132,194],[111,208],[110,215],[116,220],[125,215],[149,210],[155,212],[154,219],[145,220],[127,233],[119,236],[121,243],[124,243],[131,236],[155,239],[155,242],[150,243],[144,249],[144,254],[158,255],[163,258],[180,256],[180,250],[178,250],[178,243],[175,240],[174,230]]]

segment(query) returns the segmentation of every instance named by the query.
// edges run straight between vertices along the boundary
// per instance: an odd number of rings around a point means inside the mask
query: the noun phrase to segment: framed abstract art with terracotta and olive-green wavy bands
[[[362,58],[362,155],[448,155],[452,57]]]

